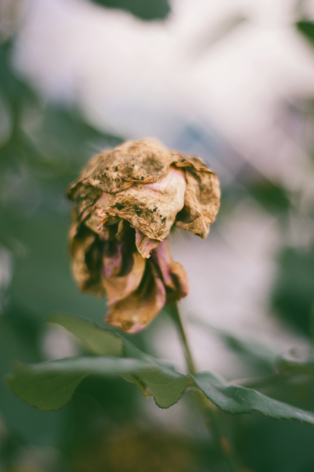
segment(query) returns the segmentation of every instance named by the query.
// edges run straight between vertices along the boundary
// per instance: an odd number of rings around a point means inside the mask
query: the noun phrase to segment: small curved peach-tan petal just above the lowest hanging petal
[[[107,277],[103,273],[102,282],[107,293],[108,305],[117,303],[137,290],[143,278],[145,262],[146,259],[143,259],[139,253],[133,253],[133,265],[128,274]]]

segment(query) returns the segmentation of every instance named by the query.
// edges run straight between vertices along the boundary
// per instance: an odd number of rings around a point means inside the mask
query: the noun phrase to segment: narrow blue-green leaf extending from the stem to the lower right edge
[[[299,420],[314,424],[314,413],[274,400],[253,388],[228,385],[224,379],[210,372],[197,373],[193,376],[193,380],[212,403],[228,413],[260,412],[276,419]]]

